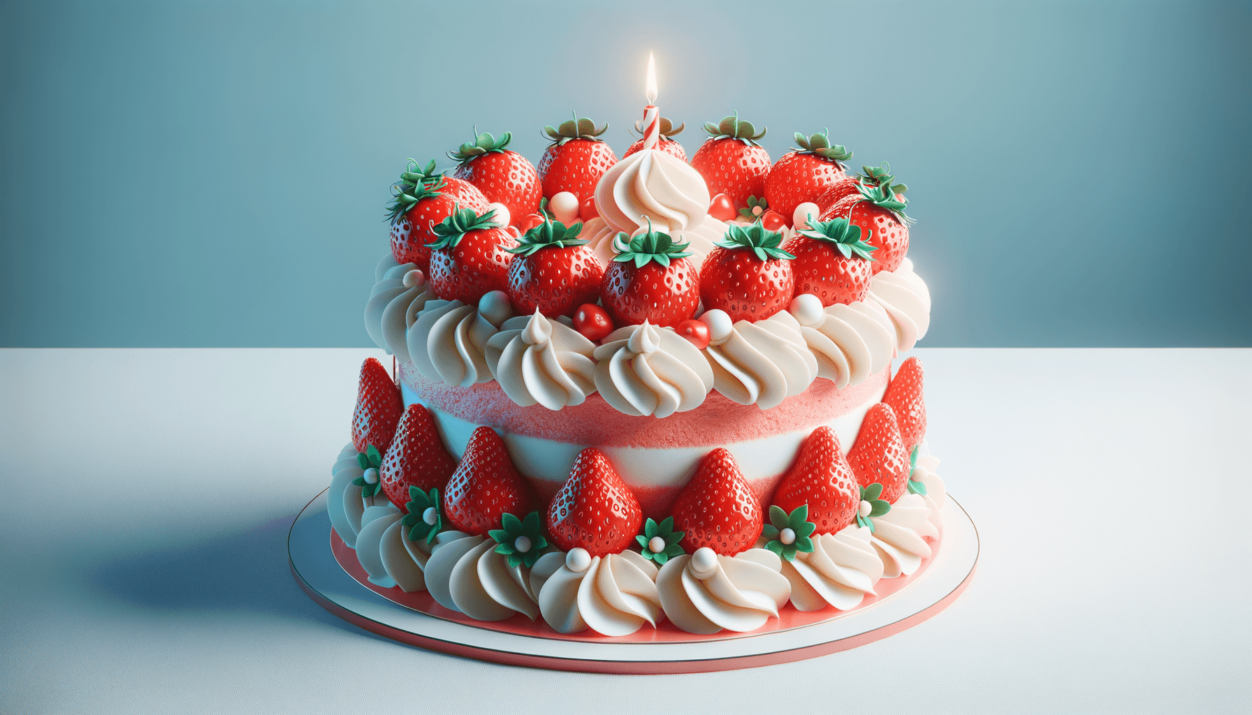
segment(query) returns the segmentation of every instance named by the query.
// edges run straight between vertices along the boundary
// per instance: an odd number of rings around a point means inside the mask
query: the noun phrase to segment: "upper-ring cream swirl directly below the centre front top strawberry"
[[[601,397],[635,417],[695,409],[714,386],[712,368],[694,344],[646,321],[610,333],[593,357]]]

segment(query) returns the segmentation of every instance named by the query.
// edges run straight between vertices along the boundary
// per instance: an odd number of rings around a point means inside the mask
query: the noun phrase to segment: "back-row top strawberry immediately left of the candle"
[[[551,199],[561,192],[570,192],[581,204],[596,193],[600,177],[617,163],[617,154],[600,135],[608,125],[596,129],[590,119],[568,119],[543,131],[552,138],[552,145],[540,159],[540,180],[543,195]]]

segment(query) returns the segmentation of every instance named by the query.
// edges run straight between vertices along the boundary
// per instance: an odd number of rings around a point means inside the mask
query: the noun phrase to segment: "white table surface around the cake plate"
[[[368,354],[0,349],[0,712],[1252,709],[1252,351],[916,351],[969,590],[850,651],[675,676],[449,657],[304,596],[287,527]]]

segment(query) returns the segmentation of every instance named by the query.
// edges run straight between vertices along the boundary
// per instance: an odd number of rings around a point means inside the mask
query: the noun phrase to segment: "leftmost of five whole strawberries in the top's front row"
[[[485,293],[508,285],[510,248],[517,239],[492,220],[495,212],[458,209],[434,227],[431,285],[444,301],[475,304]]]

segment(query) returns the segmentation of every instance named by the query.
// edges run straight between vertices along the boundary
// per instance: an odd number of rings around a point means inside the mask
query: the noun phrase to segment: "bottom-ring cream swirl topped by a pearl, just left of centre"
[[[545,553],[535,568],[551,570],[540,590],[540,611],[553,630],[591,629],[606,636],[630,635],[662,616],[656,565],[634,551],[591,556],[582,547]]]

